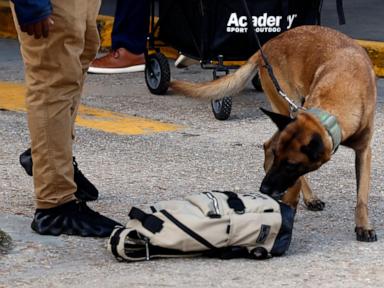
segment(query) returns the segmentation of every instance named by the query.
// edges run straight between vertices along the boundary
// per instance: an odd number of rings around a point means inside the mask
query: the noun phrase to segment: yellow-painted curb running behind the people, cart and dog
[[[113,20],[112,16],[99,15],[97,17],[102,51],[106,51],[111,47]],[[9,2],[3,0],[0,0],[0,38],[17,38]],[[357,40],[357,42],[368,52],[376,75],[384,77],[384,42],[367,40]],[[171,59],[176,59],[179,56],[179,53],[171,47],[161,47],[160,50],[166,57]]]

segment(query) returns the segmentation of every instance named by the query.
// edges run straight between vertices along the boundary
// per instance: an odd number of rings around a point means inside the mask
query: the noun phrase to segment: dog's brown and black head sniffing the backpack
[[[306,113],[296,118],[261,109],[278,131],[264,143],[264,177],[260,192],[281,197],[298,178],[330,159],[332,147],[324,127]]]

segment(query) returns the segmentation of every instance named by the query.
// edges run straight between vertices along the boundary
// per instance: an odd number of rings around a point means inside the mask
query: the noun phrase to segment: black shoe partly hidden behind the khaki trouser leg
[[[20,164],[29,176],[32,176],[32,155],[31,148],[20,154]],[[75,196],[82,201],[94,201],[99,197],[99,191],[79,170],[75,157],[73,157],[73,168],[75,171],[74,180],[77,185]]]

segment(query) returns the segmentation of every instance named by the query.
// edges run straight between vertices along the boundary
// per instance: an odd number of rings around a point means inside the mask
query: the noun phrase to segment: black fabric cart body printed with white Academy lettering
[[[320,24],[322,0],[246,2],[261,44],[287,29]],[[342,0],[337,2],[342,12]],[[245,60],[258,50],[239,0],[161,0],[159,19],[160,39],[192,58]]]

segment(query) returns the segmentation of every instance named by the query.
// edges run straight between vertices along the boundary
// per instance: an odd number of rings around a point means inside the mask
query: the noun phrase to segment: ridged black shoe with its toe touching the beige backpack
[[[83,237],[109,237],[115,226],[122,225],[76,200],[54,208],[36,209],[31,224],[31,228],[41,235]]]

